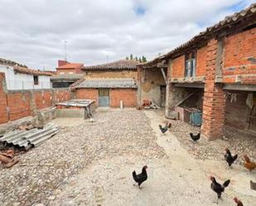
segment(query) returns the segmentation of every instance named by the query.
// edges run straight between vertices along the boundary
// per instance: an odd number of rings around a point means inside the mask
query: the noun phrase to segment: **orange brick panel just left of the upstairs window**
[[[185,55],[172,60],[171,78],[182,78],[185,76]]]

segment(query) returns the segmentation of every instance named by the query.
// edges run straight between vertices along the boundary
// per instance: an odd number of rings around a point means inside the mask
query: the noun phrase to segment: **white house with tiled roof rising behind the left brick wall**
[[[28,69],[12,60],[0,58],[0,73],[5,74],[8,90],[51,88],[51,73]]]

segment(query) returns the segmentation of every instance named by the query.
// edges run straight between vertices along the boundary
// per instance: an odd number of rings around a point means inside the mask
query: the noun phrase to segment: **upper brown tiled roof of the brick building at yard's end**
[[[111,63],[103,65],[92,65],[85,66],[84,70],[101,70],[101,69],[137,69],[138,61],[137,60],[118,60]]]

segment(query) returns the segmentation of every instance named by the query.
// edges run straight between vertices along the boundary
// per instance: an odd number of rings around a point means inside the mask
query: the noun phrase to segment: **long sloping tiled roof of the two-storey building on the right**
[[[254,21],[251,22],[251,20],[248,20],[249,17],[253,17]],[[226,29],[229,29],[229,27],[234,25],[235,23],[243,22],[243,21],[244,22],[250,21],[252,24],[256,23],[256,3],[251,4],[248,8],[246,8],[240,12],[235,12],[233,15],[225,17],[224,20],[216,23],[214,26],[207,27],[205,31],[200,32],[198,35],[194,36],[190,41],[186,41],[181,46],[177,46],[174,50],[171,50],[166,55],[161,55],[154,60],[148,61],[148,62],[140,64],[140,65],[155,64],[167,57],[170,57],[171,55],[175,55],[180,50],[183,50],[189,46],[195,45],[196,42],[198,42],[198,41],[206,40],[211,34],[214,34],[215,32],[225,31]]]

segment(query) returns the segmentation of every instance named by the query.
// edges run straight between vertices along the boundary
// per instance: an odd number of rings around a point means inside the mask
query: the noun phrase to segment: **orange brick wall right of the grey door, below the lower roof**
[[[137,89],[110,89],[110,107],[119,108],[120,100],[123,107],[135,108],[137,105]]]

